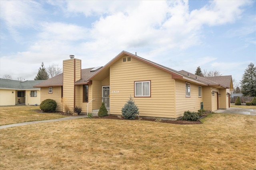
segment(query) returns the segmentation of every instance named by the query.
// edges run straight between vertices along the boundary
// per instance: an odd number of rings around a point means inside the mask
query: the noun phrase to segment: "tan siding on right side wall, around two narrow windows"
[[[186,82],[175,80],[176,87],[176,117],[183,116],[184,111],[198,111],[203,102],[204,92],[201,90],[202,97],[198,97],[198,85],[190,83],[190,97],[186,97]]]

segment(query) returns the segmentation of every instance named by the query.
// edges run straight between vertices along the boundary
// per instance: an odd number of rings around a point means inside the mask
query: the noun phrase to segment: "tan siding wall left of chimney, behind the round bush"
[[[57,103],[56,111],[62,111],[61,86],[52,87],[52,93],[48,93],[48,87],[42,87],[40,103],[46,99],[55,100]]]

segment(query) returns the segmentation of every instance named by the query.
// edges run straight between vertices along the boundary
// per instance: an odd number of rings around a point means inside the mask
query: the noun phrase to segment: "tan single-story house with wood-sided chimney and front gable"
[[[103,67],[81,69],[81,60],[63,61],[63,73],[37,84],[41,102],[51,98],[63,111],[61,98],[73,109],[92,112],[105,103],[110,114],[121,115],[130,96],[140,116],[177,119],[184,111],[230,107],[232,76],[200,77],[176,71],[122,51]],[[88,105],[88,108],[87,108]]]

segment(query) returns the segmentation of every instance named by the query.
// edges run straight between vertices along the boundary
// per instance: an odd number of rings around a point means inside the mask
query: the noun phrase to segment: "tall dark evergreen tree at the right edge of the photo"
[[[241,92],[244,96],[256,96],[256,67],[250,63],[242,76]]]

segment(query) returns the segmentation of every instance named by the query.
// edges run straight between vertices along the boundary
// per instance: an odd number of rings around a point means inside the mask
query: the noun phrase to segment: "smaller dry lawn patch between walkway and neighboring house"
[[[37,113],[39,106],[2,106],[0,107],[0,125],[58,119],[66,117],[58,113]]]

